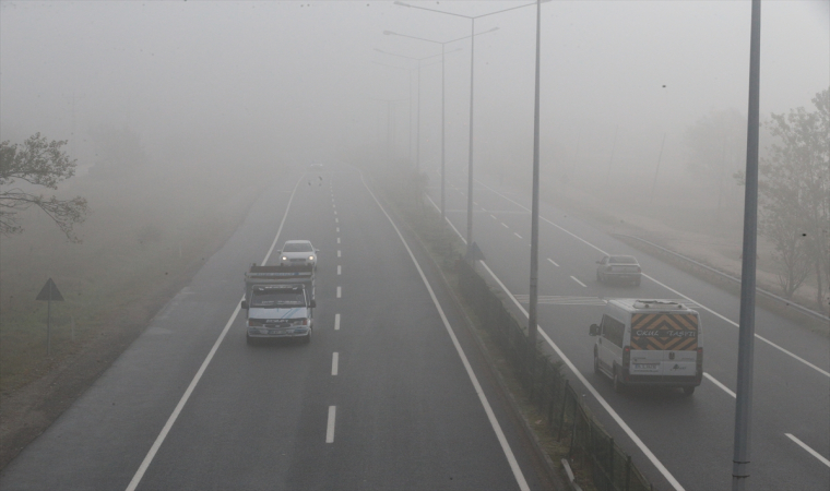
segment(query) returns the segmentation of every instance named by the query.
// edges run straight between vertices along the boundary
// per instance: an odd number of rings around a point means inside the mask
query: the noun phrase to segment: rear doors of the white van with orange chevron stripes
[[[698,315],[654,312],[631,315],[632,375],[693,376],[698,358]]]

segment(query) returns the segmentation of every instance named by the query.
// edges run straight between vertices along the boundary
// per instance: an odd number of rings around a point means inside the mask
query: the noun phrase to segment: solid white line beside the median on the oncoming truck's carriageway
[[[360,175],[360,180],[363,180],[363,173]],[[380,211],[383,212],[383,215],[387,216],[387,219],[392,225],[392,228],[394,228],[395,232],[398,233],[398,237],[401,239],[401,242],[403,243],[403,247],[406,248],[406,252],[410,253],[410,258],[412,259],[413,264],[415,264],[415,268],[418,271],[418,274],[420,275],[420,279],[424,282],[424,285],[427,287],[429,297],[432,299],[432,303],[435,304],[436,310],[438,311],[438,314],[441,316],[443,326],[447,330],[447,333],[450,335],[450,339],[452,339],[452,345],[455,347],[455,351],[459,354],[459,358],[461,358],[461,362],[464,364],[464,370],[466,370],[467,376],[470,378],[470,381],[473,383],[475,393],[478,395],[478,400],[482,403],[482,406],[484,407],[484,411],[487,414],[487,419],[490,421],[493,431],[496,433],[496,438],[501,444],[501,450],[505,452],[505,457],[507,457],[508,464],[510,465],[510,469],[513,471],[513,477],[515,478],[515,481],[519,484],[519,488],[522,491],[530,491],[527,481],[524,479],[524,475],[522,474],[522,469],[519,467],[519,463],[517,462],[515,456],[513,455],[513,451],[510,448],[510,444],[508,443],[503,431],[501,431],[501,426],[499,424],[498,419],[496,419],[496,415],[493,412],[490,403],[487,400],[487,396],[484,395],[484,390],[482,390],[482,385],[478,383],[478,378],[475,376],[475,372],[473,372],[473,367],[470,364],[470,361],[467,360],[467,357],[464,354],[464,350],[462,349],[461,344],[459,343],[459,339],[455,337],[455,332],[452,330],[452,326],[450,325],[450,321],[447,319],[447,315],[444,314],[443,309],[441,308],[441,304],[438,302],[438,297],[436,297],[435,291],[432,291],[432,287],[429,285],[429,282],[427,280],[427,277],[424,274],[424,271],[420,268],[420,264],[418,264],[418,261],[415,259],[415,254],[413,254],[412,250],[410,249],[410,246],[406,243],[406,240],[403,238],[403,235],[401,233],[401,231],[398,229],[398,226],[392,220],[392,217],[389,216],[386,209],[383,209],[383,206],[375,196],[375,193],[372,193],[369,187],[366,184],[365,180],[363,181],[363,183],[366,190],[369,192],[369,194],[371,194],[371,197],[375,200],[375,203],[378,204],[378,207],[380,208]]]

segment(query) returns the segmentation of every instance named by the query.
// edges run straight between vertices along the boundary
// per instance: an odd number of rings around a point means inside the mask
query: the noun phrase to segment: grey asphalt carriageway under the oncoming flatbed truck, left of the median
[[[242,274],[320,249],[312,342],[248,346]],[[356,170],[297,169],[0,489],[550,489],[436,272]]]

